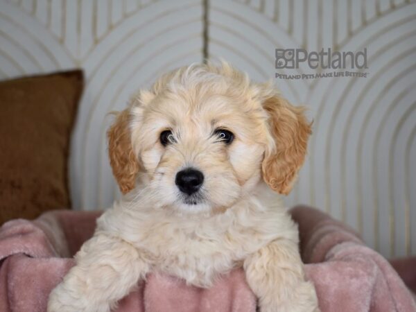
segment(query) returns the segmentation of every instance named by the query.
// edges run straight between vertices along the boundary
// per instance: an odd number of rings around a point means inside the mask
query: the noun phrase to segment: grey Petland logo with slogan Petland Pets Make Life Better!
[[[326,77],[367,77],[367,48],[363,51],[332,51],[331,48],[308,52],[305,49],[276,49],[276,69],[338,69],[338,71],[318,73],[296,73],[287,75],[276,73],[276,78],[310,79]],[[360,71],[339,71],[339,69],[358,69]]]

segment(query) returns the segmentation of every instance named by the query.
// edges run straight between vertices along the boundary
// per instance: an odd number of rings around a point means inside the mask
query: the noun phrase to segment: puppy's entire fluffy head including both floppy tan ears
[[[288,193],[306,153],[302,110],[227,64],[162,76],[110,128],[121,191],[137,182],[168,209],[224,211],[263,179]],[[138,181],[139,180],[139,181]]]

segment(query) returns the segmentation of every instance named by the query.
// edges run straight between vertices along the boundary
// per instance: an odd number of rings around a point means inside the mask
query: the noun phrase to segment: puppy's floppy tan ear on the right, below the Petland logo
[[[274,146],[266,148],[261,169],[263,179],[271,189],[288,194],[304,162],[311,123],[303,107],[294,107],[279,95],[267,98],[263,108],[269,115]]]

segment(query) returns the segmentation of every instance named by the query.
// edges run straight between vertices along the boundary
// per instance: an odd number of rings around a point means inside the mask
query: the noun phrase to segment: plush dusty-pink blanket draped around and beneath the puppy
[[[0,311],[46,311],[49,292],[73,266],[71,257],[92,236],[100,214],[60,210],[34,221],[4,224]],[[352,229],[309,207],[296,207],[291,214],[300,226],[302,258],[323,312],[416,311],[413,295],[390,263],[367,248]],[[256,299],[242,270],[209,289],[150,275],[121,300],[117,311],[254,312]]]

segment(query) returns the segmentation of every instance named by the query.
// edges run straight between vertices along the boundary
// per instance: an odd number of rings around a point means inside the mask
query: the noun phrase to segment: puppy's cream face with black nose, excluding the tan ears
[[[132,115],[132,141],[160,200],[184,211],[229,207],[261,177],[266,115],[227,94],[163,94]],[[133,117],[134,119],[135,117]]]

